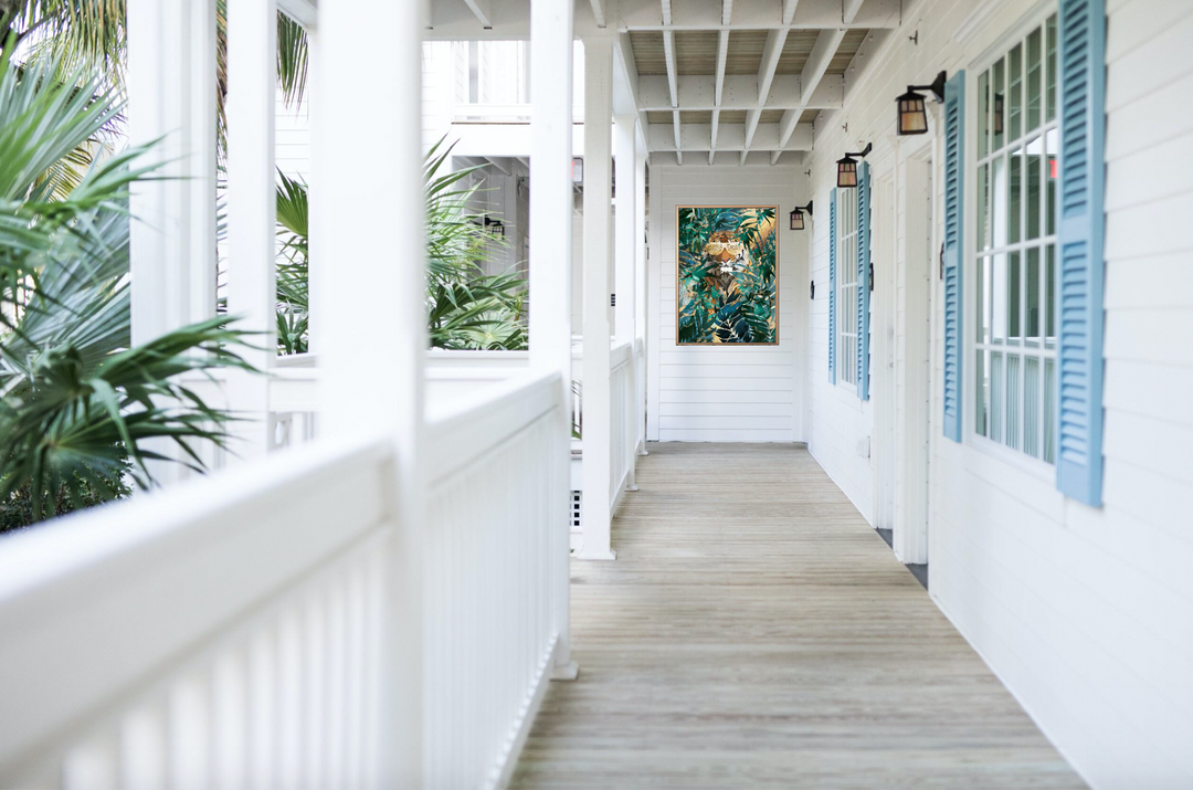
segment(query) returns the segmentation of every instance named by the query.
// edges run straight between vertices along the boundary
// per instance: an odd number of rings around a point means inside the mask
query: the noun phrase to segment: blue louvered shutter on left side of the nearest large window
[[[965,217],[965,72],[945,84],[945,437],[962,440],[962,229]]]

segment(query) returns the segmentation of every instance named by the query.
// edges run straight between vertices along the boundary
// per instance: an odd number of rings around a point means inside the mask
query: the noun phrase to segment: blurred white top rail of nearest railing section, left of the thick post
[[[62,518],[0,551],[0,765],[384,523],[388,440],[320,443]]]

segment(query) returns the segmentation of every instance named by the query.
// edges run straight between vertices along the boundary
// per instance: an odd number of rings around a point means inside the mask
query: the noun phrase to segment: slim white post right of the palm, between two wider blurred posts
[[[277,359],[277,0],[228,4],[228,313],[234,327],[260,334],[242,356],[267,371]],[[270,384],[258,374],[231,371],[231,408],[246,421],[231,446],[253,458],[270,445]]]

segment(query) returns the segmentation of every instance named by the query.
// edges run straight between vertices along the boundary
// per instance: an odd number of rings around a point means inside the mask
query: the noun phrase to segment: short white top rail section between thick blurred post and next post
[[[558,372],[520,375],[484,389],[482,400],[443,409],[427,421],[428,482],[482,458],[527,425],[562,406]]]

